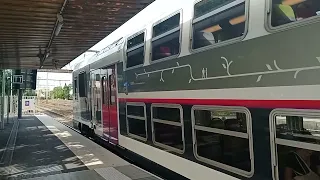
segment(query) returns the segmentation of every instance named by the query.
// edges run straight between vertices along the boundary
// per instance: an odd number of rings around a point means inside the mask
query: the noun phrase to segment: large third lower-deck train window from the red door
[[[249,110],[242,107],[194,106],[192,129],[197,160],[245,177],[253,175]]]

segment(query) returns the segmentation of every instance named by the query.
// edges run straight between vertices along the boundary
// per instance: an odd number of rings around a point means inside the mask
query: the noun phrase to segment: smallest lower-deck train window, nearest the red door
[[[144,103],[127,103],[127,133],[129,136],[147,141],[147,116]]]

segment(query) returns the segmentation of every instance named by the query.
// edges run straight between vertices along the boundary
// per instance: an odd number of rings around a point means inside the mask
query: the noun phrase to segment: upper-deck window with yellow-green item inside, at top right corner
[[[320,15],[320,1],[318,0],[272,0],[272,27],[318,15]]]

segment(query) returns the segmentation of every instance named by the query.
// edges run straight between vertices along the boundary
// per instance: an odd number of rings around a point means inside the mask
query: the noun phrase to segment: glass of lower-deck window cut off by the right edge
[[[277,144],[280,180],[320,180],[320,154],[311,150],[312,144],[320,144],[319,122],[295,116],[278,117],[277,138],[290,140]],[[295,142],[308,144],[297,148]]]

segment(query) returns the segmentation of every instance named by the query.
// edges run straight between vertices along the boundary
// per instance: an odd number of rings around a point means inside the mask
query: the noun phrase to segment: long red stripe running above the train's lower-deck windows
[[[246,99],[149,99],[119,98],[120,102],[168,103],[186,105],[245,106],[255,108],[320,109],[320,100],[246,100]]]

